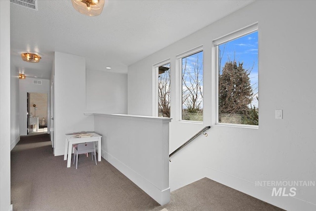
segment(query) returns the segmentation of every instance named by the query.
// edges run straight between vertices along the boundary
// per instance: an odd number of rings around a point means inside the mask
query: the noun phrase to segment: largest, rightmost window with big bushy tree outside
[[[219,124],[258,126],[256,30],[257,25],[252,25],[230,34],[226,37],[227,41],[225,38],[214,41],[217,46]]]

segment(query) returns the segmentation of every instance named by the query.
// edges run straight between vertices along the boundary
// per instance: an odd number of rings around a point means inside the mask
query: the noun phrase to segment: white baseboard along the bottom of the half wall
[[[102,157],[107,160],[111,165],[123,173],[127,178],[134,182],[138,187],[145,191],[150,197],[152,197],[160,205],[165,205],[170,202],[170,187],[165,190],[160,190],[153,183],[145,179],[133,169],[129,168],[117,158],[113,157],[105,150],[102,149]]]

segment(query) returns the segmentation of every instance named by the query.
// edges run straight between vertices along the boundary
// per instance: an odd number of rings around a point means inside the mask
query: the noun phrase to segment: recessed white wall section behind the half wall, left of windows
[[[87,110],[127,114],[127,74],[86,71]]]

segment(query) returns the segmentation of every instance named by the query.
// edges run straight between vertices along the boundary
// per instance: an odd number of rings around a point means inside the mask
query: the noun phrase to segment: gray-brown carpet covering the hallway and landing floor
[[[49,135],[22,136],[11,151],[13,211],[278,211],[280,209],[203,178],[171,193],[160,206],[102,159],[79,157],[67,168],[54,157]]]

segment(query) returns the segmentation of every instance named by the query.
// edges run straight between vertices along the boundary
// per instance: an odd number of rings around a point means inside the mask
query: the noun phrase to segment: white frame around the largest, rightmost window
[[[233,124],[233,123],[220,123],[219,122],[219,45],[230,42],[233,40],[236,40],[238,38],[241,38],[243,36],[246,36],[248,34],[258,32],[258,38],[259,38],[259,29],[258,29],[258,22],[253,23],[251,25],[248,25],[246,27],[243,27],[239,30],[236,30],[232,33],[229,33],[228,35],[222,36],[218,39],[213,40],[213,48],[215,49],[213,59],[212,61],[215,62],[214,68],[215,68],[215,125],[219,126],[228,126],[228,127],[245,127],[245,128],[259,128],[259,122],[258,125],[244,125],[244,124]],[[258,39],[259,41],[259,39]],[[259,69],[259,42],[258,42],[258,69]],[[258,94],[259,94],[259,71],[258,71]],[[259,103],[259,102],[258,102]],[[259,112],[258,112],[259,115]]]

